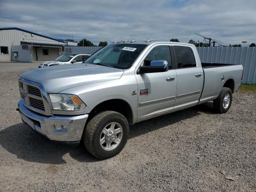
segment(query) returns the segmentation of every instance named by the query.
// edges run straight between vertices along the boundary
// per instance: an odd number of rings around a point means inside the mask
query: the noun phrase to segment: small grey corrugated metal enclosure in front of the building
[[[31,46],[30,45],[26,45],[26,46],[12,45],[11,60],[32,63]]]

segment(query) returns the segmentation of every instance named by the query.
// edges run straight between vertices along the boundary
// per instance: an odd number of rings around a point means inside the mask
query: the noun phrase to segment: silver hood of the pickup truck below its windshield
[[[20,77],[44,86],[47,93],[58,93],[75,86],[119,79],[124,70],[95,64],[66,64],[38,68]]]

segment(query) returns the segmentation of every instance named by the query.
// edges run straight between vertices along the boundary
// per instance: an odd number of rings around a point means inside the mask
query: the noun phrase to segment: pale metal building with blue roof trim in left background
[[[54,60],[61,53],[64,45],[77,46],[74,40],[62,40],[17,27],[0,28],[0,61],[11,61],[18,56],[12,46],[20,45],[24,50],[30,50],[34,61]],[[22,54],[22,52],[20,52]]]

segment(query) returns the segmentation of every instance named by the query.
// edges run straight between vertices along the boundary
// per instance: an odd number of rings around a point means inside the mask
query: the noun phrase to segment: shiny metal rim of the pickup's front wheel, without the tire
[[[101,132],[100,145],[106,151],[113,150],[120,144],[122,136],[122,126],[117,122],[109,123]]]

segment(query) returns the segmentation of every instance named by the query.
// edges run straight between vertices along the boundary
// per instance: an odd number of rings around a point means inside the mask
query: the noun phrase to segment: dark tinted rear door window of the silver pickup
[[[196,67],[193,50],[186,46],[173,46],[178,68]]]

